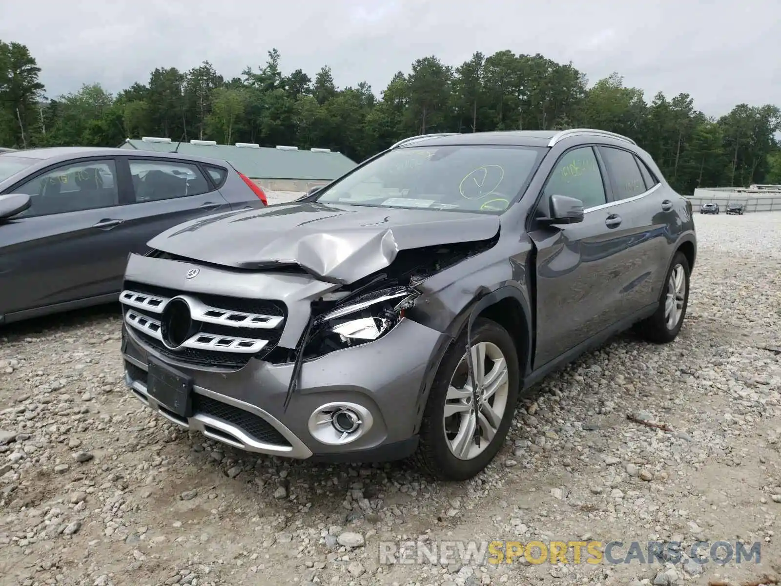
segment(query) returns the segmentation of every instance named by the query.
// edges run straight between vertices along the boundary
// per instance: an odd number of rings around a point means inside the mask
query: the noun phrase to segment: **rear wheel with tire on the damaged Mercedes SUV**
[[[667,344],[678,337],[689,306],[689,261],[683,252],[672,257],[662,287],[662,298],[656,313],[638,323],[640,335],[655,344]]]

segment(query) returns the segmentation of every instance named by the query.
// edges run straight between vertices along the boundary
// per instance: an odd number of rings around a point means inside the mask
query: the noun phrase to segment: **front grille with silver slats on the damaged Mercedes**
[[[195,328],[172,350],[162,341],[161,320],[169,301],[181,295],[187,297]],[[271,352],[287,317],[282,302],[190,293],[135,281],[125,282],[119,301],[128,327],[162,356],[194,366],[232,370]]]

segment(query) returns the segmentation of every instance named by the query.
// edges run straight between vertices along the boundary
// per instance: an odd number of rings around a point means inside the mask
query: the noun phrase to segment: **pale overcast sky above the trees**
[[[146,83],[209,60],[224,77],[278,48],[284,73],[380,97],[398,70],[510,49],[572,61],[590,84],[617,71],[648,101],[685,91],[712,116],[781,105],[781,0],[27,0],[2,2],[0,39],[27,45],[49,97]]]

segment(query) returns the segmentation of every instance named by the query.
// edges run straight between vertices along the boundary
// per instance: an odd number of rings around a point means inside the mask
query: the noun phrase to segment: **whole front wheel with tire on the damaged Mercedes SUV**
[[[519,395],[519,359],[498,323],[478,318],[470,343],[478,409],[466,357],[466,332],[445,352],[431,387],[416,460],[437,480],[465,481],[480,473],[507,437]],[[474,438],[479,430],[480,442]]]

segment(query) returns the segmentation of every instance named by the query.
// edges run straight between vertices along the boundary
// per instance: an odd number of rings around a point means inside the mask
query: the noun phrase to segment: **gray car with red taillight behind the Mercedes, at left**
[[[127,255],[148,252],[163,230],[266,205],[263,190],[220,159],[85,147],[0,153],[0,323],[116,301]]]

